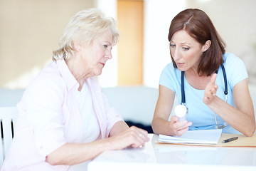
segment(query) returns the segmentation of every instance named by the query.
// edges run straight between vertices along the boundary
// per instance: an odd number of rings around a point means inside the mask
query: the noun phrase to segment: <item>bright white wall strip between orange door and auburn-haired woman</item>
[[[171,19],[185,8],[186,0],[144,1],[144,86],[158,88],[161,70],[171,62]]]

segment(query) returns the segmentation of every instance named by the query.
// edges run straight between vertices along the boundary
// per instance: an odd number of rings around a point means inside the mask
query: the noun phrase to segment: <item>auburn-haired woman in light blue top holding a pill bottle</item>
[[[200,9],[178,13],[169,28],[171,63],[161,73],[154,133],[182,135],[187,130],[223,129],[223,133],[255,132],[255,115],[245,64],[225,53],[208,15]],[[187,120],[169,120],[174,97],[186,103]]]

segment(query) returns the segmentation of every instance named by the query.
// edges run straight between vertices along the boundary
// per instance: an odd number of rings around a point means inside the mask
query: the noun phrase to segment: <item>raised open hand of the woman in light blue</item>
[[[210,78],[210,82],[207,84],[204,97],[203,97],[203,103],[206,105],[210,104],[212,100],[215,98],[218,86],[215,85],[215,81],[217,78],[217,73],[214,73],[212,78]]]

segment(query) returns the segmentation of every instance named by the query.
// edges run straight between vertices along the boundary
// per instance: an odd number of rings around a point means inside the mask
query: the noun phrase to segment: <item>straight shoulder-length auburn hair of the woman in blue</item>
[[[178,13],[171,21],[168,40],[171,41],[176,31],[184,30],[198,43],[204,45],[210,40],[211,44],[207,51],[204,51],[198,65],[198,74],[210,76],[223,64],[225,53],[225,42],[220,38],[218,32],[210,21],[209,16],[201,9],[186,9]],[[177,68],[174,58],[171,56],[174,68]]]

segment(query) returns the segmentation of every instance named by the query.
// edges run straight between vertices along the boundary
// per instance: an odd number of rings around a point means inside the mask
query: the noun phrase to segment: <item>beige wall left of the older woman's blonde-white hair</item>
[[[26,88],[51,61],[70,18],[93,0],[0,0],[0,87]]]

